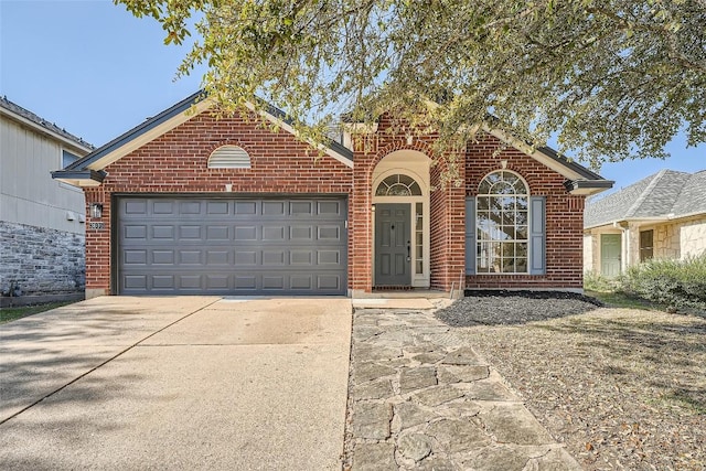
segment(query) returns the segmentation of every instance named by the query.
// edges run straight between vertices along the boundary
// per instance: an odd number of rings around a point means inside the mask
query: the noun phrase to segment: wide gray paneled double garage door
[[[117,206],[120,293],[345,293],[342,199],[125,197]]]

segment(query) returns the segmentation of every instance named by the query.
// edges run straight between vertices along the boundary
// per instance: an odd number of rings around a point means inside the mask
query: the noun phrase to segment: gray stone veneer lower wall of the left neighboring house
[[[0,222],[0,292],[12,283],[22,296],[83,291],[84,244],[83,234]]]

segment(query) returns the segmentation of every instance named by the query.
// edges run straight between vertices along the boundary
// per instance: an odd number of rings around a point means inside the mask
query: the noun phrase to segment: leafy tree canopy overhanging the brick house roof
[[[705,0],[115,0],[162,23],[165,43],[201,39],[197,63],[221,109],[263,96],[302,136],[347,111],[389,111],[463,146],[493,127],[556,136],[595,168],[666,157],[684,130],[706,141]]]

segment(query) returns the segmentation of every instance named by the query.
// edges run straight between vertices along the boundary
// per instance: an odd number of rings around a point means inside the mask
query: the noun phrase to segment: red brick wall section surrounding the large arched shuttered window
[[[515,149],[506,149],[496,158],[498,139],[488,136],[471,144],[466,161],[466,195],[475,196],[478,185],[488,173],[501,169],[522,175],[532,196],[546,197],[546,274],[475,275],[466,279],[467,288],[582,288],[584,196],[570,195],[565,178]]]

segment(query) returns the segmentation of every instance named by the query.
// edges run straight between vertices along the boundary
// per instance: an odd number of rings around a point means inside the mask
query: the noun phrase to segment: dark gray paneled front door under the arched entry
[[[375,205],[375,286],[409,286],[409,204]]]

